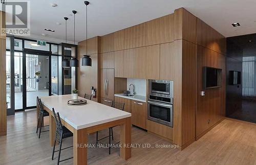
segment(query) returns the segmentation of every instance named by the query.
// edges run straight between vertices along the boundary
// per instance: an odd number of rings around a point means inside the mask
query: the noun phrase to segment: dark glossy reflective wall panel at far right
[[[256,34],[227,38],[226,72],[226,116],[256,123]]]

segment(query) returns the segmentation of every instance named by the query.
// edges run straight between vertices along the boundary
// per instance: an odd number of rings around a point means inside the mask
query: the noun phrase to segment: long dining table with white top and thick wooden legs
[[[49,112],[50,145],[54,145],[56,124],[52,112],[59,112],[61,123],[73,133],[73,164],[87,164],[88,135],[96,131],[120,126],[120,157],[131,157],[131,113],[87,100],[85,105],[69,105],[72,95],[40,97]],[[86,100],[78,97],[78,99]],[[37,114],[39,106],[37,103]]]

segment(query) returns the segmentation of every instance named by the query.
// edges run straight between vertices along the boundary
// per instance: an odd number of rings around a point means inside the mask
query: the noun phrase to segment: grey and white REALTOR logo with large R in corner
[[[6,27],[2,24],[1,35],[30,35],[29,1],[8,1],[2,5],[2,11],[5,12]]]

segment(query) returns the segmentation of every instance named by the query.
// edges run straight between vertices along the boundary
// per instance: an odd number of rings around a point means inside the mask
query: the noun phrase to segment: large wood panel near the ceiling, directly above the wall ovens
[[[146,45],[174,41],[174,14],[146,22]]]

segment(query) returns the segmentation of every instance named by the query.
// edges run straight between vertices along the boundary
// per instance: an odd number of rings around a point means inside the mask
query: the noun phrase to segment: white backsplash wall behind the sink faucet
[[[127,78],[127,90],[130,84],[135,85],[136,95],[146,96],[146,79]],[[133,86],[131,86],[131,91],[133,91]]]

